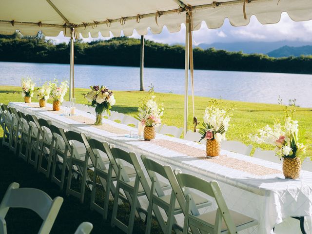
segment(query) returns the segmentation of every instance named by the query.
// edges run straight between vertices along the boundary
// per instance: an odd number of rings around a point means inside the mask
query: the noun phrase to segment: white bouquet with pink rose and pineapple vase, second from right
[[[229,128],[233,105],[230,108],[221,107],[216,99],[210,101],[205,110],[203,127],[199,129],[202,135],[200,140],[206,139],[207,156],[218,156],[220,153],[220,142],[225,140],[225,134]]]

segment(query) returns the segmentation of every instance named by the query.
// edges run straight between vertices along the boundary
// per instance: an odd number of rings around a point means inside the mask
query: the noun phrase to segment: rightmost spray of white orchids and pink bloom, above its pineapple
[[[295,158],[304,155],[306,146],[299,134],[298,121],[293,119],[294,112],[295,100],[292,100],[291,108],[286,106],[284,109],[283,121],[274,118],[273,127],[267,125],[259,129],[257,134],[250,136],[251,140],[276,146],[275,153],[280,158]]]

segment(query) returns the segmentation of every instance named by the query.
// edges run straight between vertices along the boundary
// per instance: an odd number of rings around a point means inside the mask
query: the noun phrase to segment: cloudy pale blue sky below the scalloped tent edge
[[[276,24],[262,25],[254,16],[251,18],[247,26],[234,27],[226,19],[222,27],[218,29],[208,29],[206,23],[203,22],[201,28],[194,31],[195,45],[200,43],[211,44],[214,42],[238,42],[238,41],[307,41],[312,42],[312,21],[294,22],[287,13],[282,13],[281,20]],[[134,31],[132,38],[140,36]],[[58,37],[46,37],[55,40],[55,43],[68,42],[69,38],[60,33]],[[110,37],[112,38],[112,36]],[[98,37],[96,39],[109,39]],[[96,40],[94,38],[86,38],[83,41]],[[156,42],[176,44],[184,43],[185,26],[182,24],[181,30],[177,33],[169,33],[166,27],[160,34],[152,34],[150,31],[145,39],[154,40]]]

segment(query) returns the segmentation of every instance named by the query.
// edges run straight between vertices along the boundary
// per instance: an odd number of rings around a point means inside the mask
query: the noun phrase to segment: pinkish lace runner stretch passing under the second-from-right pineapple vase
[[[235,170],[239,170],[242,172],[247,172],[255,176],[266,176],[266,175],[275,175],[275,174],[282,173],[280,170],[264,167],[258,164],[254,164],[252,162],[247,162],[247,161],[229,157],[226,155],[221,155],[221,156],[216,156],[216,157],[207,157],[205,150],[200,150],[198,148],[185,145],[182,143],[174,142],[174,141],[169,141],[169,140],[164,140],[164,139],[155,139],[155,140],[152,140],[151,143],[162,146],[164,148],[167,148],[173,151],[176,151],[178,153],[182,153],[184,155],[208,160],[215,164],[219,164],[221,166],[225,166],[228,168],[233,168]]]

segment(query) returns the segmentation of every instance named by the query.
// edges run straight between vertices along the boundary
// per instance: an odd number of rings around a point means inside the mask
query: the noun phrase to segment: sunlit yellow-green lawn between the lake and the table
[[[87,100],[83,98],[82,94],[86,93],[88,89],[75,89],[75,98],[78,103],[87,104]],[[146,95],[145,92],[139,91],[114,91],[116,104],[112,110],[122,112],[131,116],[137,113],[137,106],[139,98]],[[183,108],[184,97],[176,94],[157,94],[164,103],[164,116],[162,123],[168,125],[175,125],[183,127]],[[65,98],[68,99],[68,98]],[[202,122],[202,117],[205,108],[210,98],[195,97],[195,115]],[[7,104],[10,101],[23,101],[20,94],[20,87],[15,86],[1,86],[0,87],[0,102]],[[38,102],[33,98],[33,102]],[[51,103],[51,100],[48,102]],[[225,104],[232,101],[224,100]],[[235,109],[231,120],[231,127],[227,133],[227,138],[230,140],[239,140],[245,144],[253,144],[254,147],[261,147],[263,149],[272,149],[269,145],[258,145],[249,139],[249,134],[254,134],[255,131],[267,124],[272,124],[273,117],[282,117],[283,110],[279,105],[249,103],[234,101]],[[312,156],[312,108],[297,108],[295,118],[298,120],[300,128],[306,131],[306,142],[308,146],[307,155]],[[193,126],[192,102],[189,101],[189,129]]]

